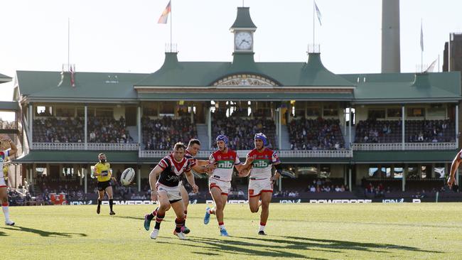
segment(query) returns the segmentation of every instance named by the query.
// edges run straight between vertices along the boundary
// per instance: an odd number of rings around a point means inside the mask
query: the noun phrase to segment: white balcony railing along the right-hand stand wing
[[[457,143],[404,143],[404,150],[453,150]],[[354,151],[399,151],[402,143],[353,143]]]

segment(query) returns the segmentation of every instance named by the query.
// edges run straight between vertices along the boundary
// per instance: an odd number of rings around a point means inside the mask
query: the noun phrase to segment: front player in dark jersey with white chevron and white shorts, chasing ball
[[[183,143],[176,143],[173,147],[173,153],[162,158],[157,166],[149,173],[149,185],[151,185],[151,200],[159,201],[159,210],[156,215],[156,226],[151,232],[151,239],[156,239],[159,235],[161,222],[165,213],[170,207],[176,214],[176,235],[180,239],[186,239],[185,234],[181,231],[185,224],[184,204],[181,202],[180,182],[181,175],[186,174],[188,183],[193,188],[193,192],[198,192],[198,186],[195,185],[194,175],[191,173],[190,161],[185,158],[186,146]],[[157,180],[157,176],[159,176]],[[157,181],[156,181],[157,180]],[[148,220],[154,218],[149,215]]]

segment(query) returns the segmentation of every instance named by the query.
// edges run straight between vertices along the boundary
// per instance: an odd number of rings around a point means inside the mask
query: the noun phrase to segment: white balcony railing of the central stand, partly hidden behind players
[[[140,158],[162,158],[163,156],[167,156],[170,154],[171,151],[159,151],[159,150],[150,150],[150,151],[139,151]],[[208,158],[213,151],[199,151],[196,155],[198,158]],[[237,155],[240,158],[245,158],[249,151],[240,150],[237,151]],[[353,151],[351,150],[310,150],[310,151],[293,151],[293,150],[282,150],[277,151],[279,157],[294,157],[294,158],[351,158],[353,157]]]

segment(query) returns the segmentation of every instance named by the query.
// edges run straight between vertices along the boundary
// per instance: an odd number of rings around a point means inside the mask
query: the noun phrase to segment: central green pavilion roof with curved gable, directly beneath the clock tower
[[[162,67],[136,82],[136,87],[205,87],[229,75],[251,73],[288,87],[354,87],[321,63],[319,53],[311,53],[308,63],[255,63],[253,53],[238,53],[232,63],[178,62],[177,53],[166,53]]]

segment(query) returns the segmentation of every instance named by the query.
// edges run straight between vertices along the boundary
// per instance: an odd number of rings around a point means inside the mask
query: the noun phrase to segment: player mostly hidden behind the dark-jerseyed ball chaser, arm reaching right
[[[194,170],[196,173],[208,173],[215,169],[214,164],[210,164],[207,160],[198,160],[195,158],[198,152],[200,151],[200,141],[198,139],[190,139],[188,143],[188,148],[185,151],[185,158],[190,161],[191,169]],[[182,227],[181,231],[184,234],[189,234],[190,229],[186,227],[186,217],[188,216],[188,205],[189,205],[189,195],[186,188],[183,186],[183,181],[180,181],[180,193],[183,200],[183,204],[185,207],[185,225]],[[168,207],[170,209],[170,207]],[[167,209],[167,210],[168,210]],[[156,217],[157,210],[159,207],[156,208],[151,214],[147,214],[144,216],[144,229],[149,230],[149,226],[151,224],[151,220]],[[173,234],[176,234],[176,231],[173,231]]]

